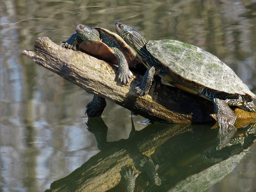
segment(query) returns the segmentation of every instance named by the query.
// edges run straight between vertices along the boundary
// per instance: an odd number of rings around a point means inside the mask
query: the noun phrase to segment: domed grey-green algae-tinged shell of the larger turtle
[[[185,87],[196,83],[213,90],[256,98],[230,67],[197,46],[170,39],[151,40],[147,50],[161,62],[167,74],[174,72],[181,76],[184,80],[180,83]]]

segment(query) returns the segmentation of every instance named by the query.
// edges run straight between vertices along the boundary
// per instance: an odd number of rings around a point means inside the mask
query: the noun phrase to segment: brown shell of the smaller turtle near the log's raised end
[[[136,53],[119,35],[101,27],[94,27],[94,29],[98,30],[99,34],[106,33],[110,38],[112,38],[112,40],[117,42],[117,44],[120,46],[121,52],[124,54],[129,64],[129,67],[135,68],[137,64],[141,64],[141,61],[136,56]],[[79,45],[79,50],[90,54],[97,59],[118,65],[118,60],[114,56],[114,53],[109,46],[102,41],[83,41],[82,44]]]

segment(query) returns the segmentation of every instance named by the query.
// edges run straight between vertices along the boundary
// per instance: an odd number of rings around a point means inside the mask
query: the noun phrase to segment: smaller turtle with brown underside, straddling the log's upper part
[[[133,69],[141,69],[142,73],[146,71],[136,53],[117,34],[101,27],[88,27],[81,24],[77,24],[75,30],[76,33],[73,33],[67,41],[63,41],[60,46],[67,49],[76,47],[81,52],[118,65],[119,84],[128,84],[131,79],[128,64]],[[98,117],[105,107],[105,98],[94,95],[93,100],[87,104],[85,113],[89,117]]]

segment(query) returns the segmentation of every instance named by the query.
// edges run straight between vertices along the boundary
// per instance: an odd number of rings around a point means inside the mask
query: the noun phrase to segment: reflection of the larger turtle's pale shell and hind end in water
[[[245,152],[254,144],[256,136],[254,135],[256,129],[256,123],[249,124],[246,128],[241,128],[244,133],[242,138],[236,136],[231,139],[230,147],[223,148],[222,150],[216,150],[215,147],[210,148],[204,155],[202,163],[217,163],[212,165],[206,170],[200,173],[187,177],[184,181],[181,181],[176,185],[174,191],[184,191],[190,189],[191,191],[204,191],[211,185],[219,182],[230,173],[237,163],[244,157]],[[241,144],[240,140],[244,143]]]

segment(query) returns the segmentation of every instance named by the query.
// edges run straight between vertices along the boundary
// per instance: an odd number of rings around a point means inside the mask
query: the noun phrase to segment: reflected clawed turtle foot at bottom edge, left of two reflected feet
[[[121,178],[125,182],[126,192],[133,192],[135,188],[136,173],[132,167],[121,167]]]

